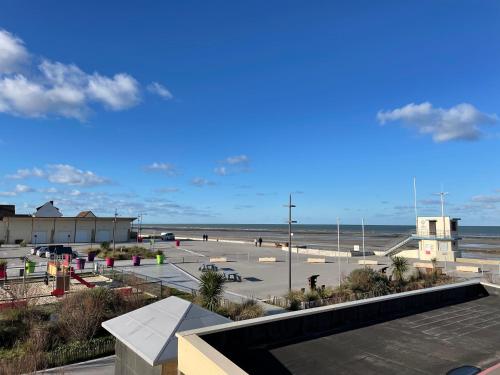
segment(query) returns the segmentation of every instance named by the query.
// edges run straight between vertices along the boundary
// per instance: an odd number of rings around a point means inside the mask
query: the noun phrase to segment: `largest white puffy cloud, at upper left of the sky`
[[[129,74],[89,74],[75,64],[48,59],[26,73],[21,63],[27,63],[28,57],[22,40],[0,30],[0,112],[83,121],[94,103],[120,111],[140,102],[140,84]]]

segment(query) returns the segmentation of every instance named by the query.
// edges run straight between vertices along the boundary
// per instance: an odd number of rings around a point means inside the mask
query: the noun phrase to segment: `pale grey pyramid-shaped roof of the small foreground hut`
[[[178,331],[231,320],[178,297],[168,297],[102,323],[151,366],[177,358]]]

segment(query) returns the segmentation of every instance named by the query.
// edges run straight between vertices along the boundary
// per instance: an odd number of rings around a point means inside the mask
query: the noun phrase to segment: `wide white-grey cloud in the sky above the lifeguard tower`
[[[435,142],[453,140],[476,140],[481,137],[481,125],[498,121],[495,114],[478,111],[468,103],[443,109],[434,108],[431,103],[408,104],[389,111],[379,111],[377,119],[381,124],[401,121],[415,127],[422,134],[430,134]]]

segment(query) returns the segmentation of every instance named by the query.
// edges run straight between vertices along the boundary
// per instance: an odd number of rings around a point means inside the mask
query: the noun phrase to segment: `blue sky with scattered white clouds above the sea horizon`
[[[496,1],[3,1],[0,202],[500,225]]]

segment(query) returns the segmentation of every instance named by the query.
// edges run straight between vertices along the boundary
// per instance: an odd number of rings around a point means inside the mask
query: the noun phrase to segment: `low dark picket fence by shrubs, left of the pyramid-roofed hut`
[[[74,342],[70,345],[59,346],[47,353],[47,367],[58,367],[70,363],[103,357],[115,352],[115,338],[101,337],[84,342]]]

